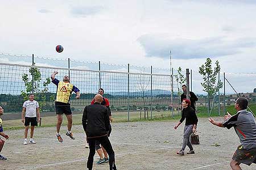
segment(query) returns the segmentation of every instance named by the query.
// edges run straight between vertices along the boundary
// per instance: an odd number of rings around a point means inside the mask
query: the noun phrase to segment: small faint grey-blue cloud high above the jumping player
[[[85,6],[77,6],[71,8],[71,14],[76,17],[86,17],[88,15],[95,15],[99,13],[103,7],[101,6],[91,6],[91,7],[85,7]]]

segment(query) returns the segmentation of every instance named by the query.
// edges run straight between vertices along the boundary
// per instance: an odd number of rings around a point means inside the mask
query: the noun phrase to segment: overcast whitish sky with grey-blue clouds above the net
[[[210,57],[221,72],[256,73],[255,9],[249,0],[3,1],[0,53],[170,68],[172,50],[174,69],[197,72]]]

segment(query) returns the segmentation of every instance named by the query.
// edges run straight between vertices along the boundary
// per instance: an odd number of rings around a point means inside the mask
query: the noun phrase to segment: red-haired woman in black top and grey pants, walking
[[[187,152],[187,154],[195,154],[193,146],[189,141],[189,137],[192,133],[195,133],[198,119],[195,110],[192,107],[190,107],[190,104],[191,103],[189,99],[184,99],[182,101],[182,115],[180,121],[177,123],[177,125],[174,126],[174,129],[176,130],[180,126],[180,124],[186,119],[183,134],[183,144],[181,150],[177,152],[177,155],[184,155],[184,150],[186,146],[188,146],[190,149],[189,152]]]

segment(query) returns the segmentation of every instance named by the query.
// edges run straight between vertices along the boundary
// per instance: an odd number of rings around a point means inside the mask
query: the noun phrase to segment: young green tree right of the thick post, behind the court
[[[221,80],[217,79],[217,74],[220,73],[220,64],[218,61],[215,62],[216,67],[212,69],[212,60],[210,58],[207,58],[207,61],[205,62],[205,65],[201,65],[199,67],[199,74],[203,76],[204,82],[201,83],[201,86],[203,86],[203,91],[207,92],[208,94],[208,113],[209,113],[209,107],[210,107],[210,97],[216,95],[218,90],[222,88],[223,83]]]

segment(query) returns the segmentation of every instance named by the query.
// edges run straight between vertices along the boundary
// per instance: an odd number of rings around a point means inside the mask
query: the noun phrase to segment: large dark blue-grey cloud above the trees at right
[[[138,39],[146,57],[169,58],[170,50],[175,59],[222,57],[241,53],[243,48],[256,46],[253,38],[210,37],[204,39],[173,39],[169,35],[143,35]]]

